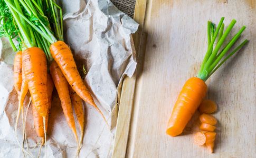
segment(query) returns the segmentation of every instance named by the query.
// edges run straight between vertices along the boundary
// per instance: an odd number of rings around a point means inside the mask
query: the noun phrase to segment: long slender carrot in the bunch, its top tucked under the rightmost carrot
[[[77,140],[78,147],[79,147],[79,141],[77,136],[77,130],[75,130],[75,122],[74,122],[74,116],[73,116],[73,109],[71,104],[71,99],[69,95],[69,83],[64,77],[63,73],[61,72],[60,67],[57,65],[55,61],[52,61],[50,66],[50,73],[52,76],[52,80],[54,82],[54,85],[56,87],[56,90],[58,91],[60,100],[61,100],[61,106],[63,108],[64,115],[66,117],[67,123],[72,130],[75,140]]]

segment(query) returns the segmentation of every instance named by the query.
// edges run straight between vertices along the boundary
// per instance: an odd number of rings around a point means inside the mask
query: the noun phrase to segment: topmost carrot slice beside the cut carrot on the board
[[[199,111],[201,113],[211,114],[216,110],[217,104],[212,100],[204,100],[199,106]]]

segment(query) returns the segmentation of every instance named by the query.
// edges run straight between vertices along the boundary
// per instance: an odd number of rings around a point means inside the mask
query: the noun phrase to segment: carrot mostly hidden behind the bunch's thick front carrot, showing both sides
[[[47,74],[47,95],[48,95],[48,111],[51,109],[52,105],[52,91],[54,88],[54,83],[52,81],[52,77],[50,74]],[[34,127],[35,131],[38,136],[44,138],[44,124],[43,124],[43,117],[39,115],[34,105],[33,106],[33,120],[34,120]],[[45,131],[48,129],[48,118],[49,113],[45,117]],[[44,140],[44,139],[42,139]]]

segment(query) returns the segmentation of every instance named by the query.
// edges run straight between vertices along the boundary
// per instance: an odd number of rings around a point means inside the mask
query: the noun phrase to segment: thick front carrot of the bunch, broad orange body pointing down
[[[48,114],[46,56],[40,48],[31,47],[23,51],[22,62],[33,105],[40,116],[46,117]]]

